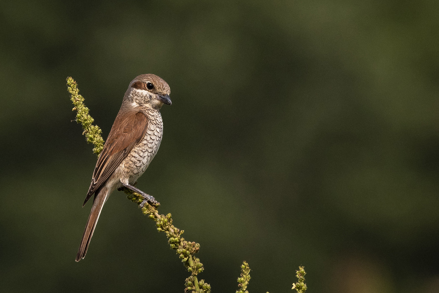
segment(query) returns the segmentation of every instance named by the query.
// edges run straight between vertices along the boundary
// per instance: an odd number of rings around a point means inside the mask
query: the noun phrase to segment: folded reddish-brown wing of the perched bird
[[[98,188],[110,177],[122,163],[128,153],[146,134],[148,117],[139,112],[138,107],[126,112],[119,111],[108,134],[107,141],[97,159],[93,179],[83,206]]]

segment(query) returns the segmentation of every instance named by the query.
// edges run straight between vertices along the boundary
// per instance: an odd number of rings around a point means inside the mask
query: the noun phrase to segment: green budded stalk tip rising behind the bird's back
[[[71,94],[70,100],[72,101],[72,111],[76,111],[76,122],[80,123],[83,127],[83,134],[87,139],[87,143],[94,145],[93,152],[99,155],[104,148],[104,139],[102,139],[102,130],[97,125],[93,125],[94,119],[88,114],[88,108],[84,105],[84,98],[79,94],[78,84],[72,77],[67,79],[67,90]]]

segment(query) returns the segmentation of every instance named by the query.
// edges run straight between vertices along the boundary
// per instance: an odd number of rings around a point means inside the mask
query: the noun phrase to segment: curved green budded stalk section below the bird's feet
[[[127,194],[126,198],[130,199],[133,203],[140,204],[143,202],[143,197],[136,192],[131,192],[128,188],[123,188],[123,191]],[[172,224],[171,214],[159,215],[157,207],[146,203],[142,207],[142,213],[148,215],[148,217],[155,221],[158,232],[165,232],[168,237],[168,243],[172,250],[176,250],[176,253],[180,255],[180,259],[187,271],[191,273],[191,276],[186,279],[185,293],[210,293],[210,285],[205,283],[204,280],[198,281],[197,275],[204,271],[203,264],[200,259],[195,257],[194,254],[200,250],[200,244],[195,242],[188,242],[184,240],[181,235],[184,230],[176,228]]]

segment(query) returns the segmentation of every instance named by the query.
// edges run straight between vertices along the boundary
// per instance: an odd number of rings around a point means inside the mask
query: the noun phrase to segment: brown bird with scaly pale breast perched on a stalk
[[[125,187],[142,195],[144,202],[157,203],[133,185],[148,168],[162,141],[160,108],[163,104],[171,105],[170,92],[168,83],[154,74],[142,74],[131,81],[97,159],[83,203],[85,206],[94,195],[76,261],[85,257],[102,207],[115,189]]]

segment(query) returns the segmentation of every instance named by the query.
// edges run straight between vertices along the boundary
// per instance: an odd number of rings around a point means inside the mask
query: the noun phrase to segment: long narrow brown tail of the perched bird
[[[78,254],[76,255],[76,261],[82,260],[87,253],[88,245],[90,244],[91,236],[93,236],[94,228],[96,227],[97,220],[101,214],[102,207],[108,196],[108,188],[102,187],[93,200],[93,206],[91,207],[90,216],[88,217],[87,224],[85,226],[83,239],[79,245]]]

